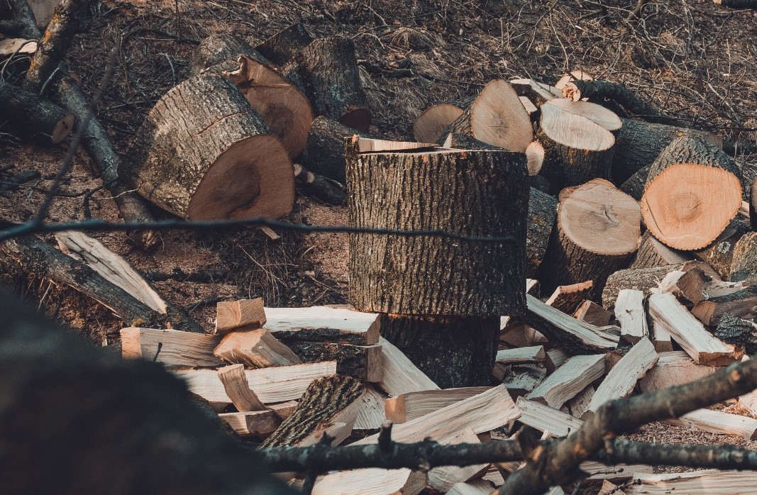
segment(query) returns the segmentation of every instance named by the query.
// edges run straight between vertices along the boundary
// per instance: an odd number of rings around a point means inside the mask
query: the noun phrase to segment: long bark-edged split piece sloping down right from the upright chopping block
[[[525,316],[519,316],[527,325],[544,334],[553,344],[562,345],[574,353],[603,352],[615,349],[620,340],[609,330],[615,326],[597,327],[547,306],[531,294],[526,295],[528,308]]]

